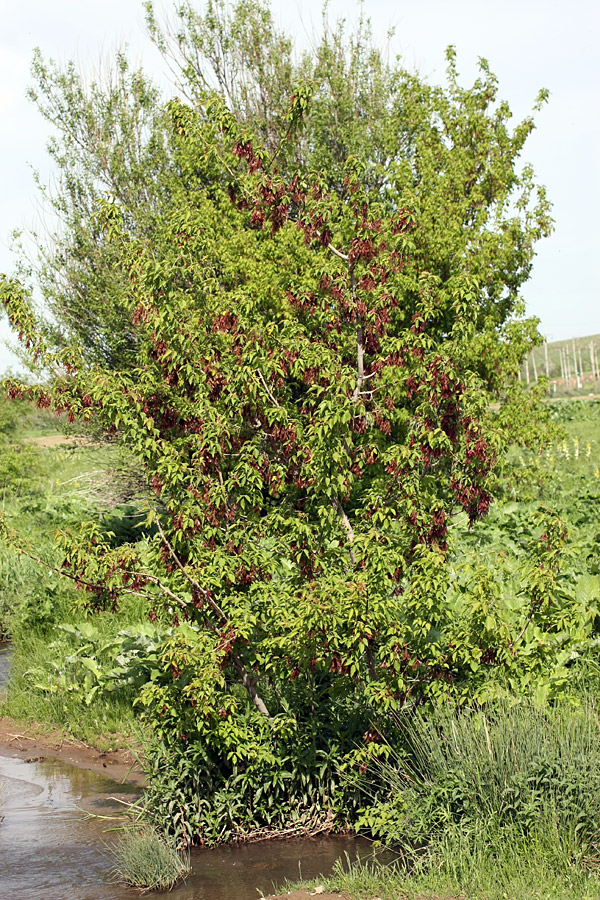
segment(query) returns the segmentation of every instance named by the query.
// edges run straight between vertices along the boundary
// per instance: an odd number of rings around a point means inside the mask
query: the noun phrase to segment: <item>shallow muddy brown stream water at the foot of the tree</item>
[[[106,820],[86,819],[84,810],[118,815],[117,802],[135,789],[58,760],[25,762],[0,756],[0,900],[134,900],[110,883]],[[114,798],[114,799],[111,799]],[[77,809],[76,807],[79,807]],[[190,877],[155,900],[257,900],[286,879],[314,878],[331,871],[347,853],[365,856],[355,838],[270,841],[192,852]]]

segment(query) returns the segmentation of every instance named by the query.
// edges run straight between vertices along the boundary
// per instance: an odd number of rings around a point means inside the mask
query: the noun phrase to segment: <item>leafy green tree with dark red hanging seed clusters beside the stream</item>
[[[299,87],[273,156],[218,96],[174,101],[186,178],[152,241],[103,204],[135,366],[56,351],[2,286],[53,373],[8,393],[117,433],[156,492],[154,536],[115,548],[89,523],[62,535],[62,571],[92,606],[133,592],[174,628],[140,703],[151,808],[187,840],[331,827],[338,757],[364,763],[407,705],[483,696],[520,639],[489,579],[459,600],[449,584],[449,523],[487,512],[495,460],[478,279],[413,264],[418,213],[360,159],[343,193],[301,159],[278,170],[309,104]]]

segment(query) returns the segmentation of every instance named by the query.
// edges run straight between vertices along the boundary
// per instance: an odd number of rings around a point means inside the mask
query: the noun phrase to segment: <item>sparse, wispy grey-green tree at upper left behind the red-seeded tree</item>
[[[123,52],[87,83],[73,63],[64,69],[36,50],[30,99],[57,130],[48,145],[57,189],[42,187],[58,222],[49,237],[30,235],[37,256],[19,268],[41,294],[43,328],[55,347],[76,342],[89,360],[131,365],[135,335],[124,311],[118,260],[96,217],[107,194],[127,211],[132,234],[151,239],[164,207],[170,170],[169,129],[159,92]],[[40,323],[42,324],[42,323]]]

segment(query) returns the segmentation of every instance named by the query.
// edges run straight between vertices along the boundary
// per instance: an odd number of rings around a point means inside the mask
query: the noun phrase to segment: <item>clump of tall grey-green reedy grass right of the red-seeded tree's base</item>
[[[600,723],[591,702],[418,711],[404,736],[401,752],[376,764],[387,796],[363,818],[376,835],[412,847],[432,847],[454,826],[478,839],[549,835],[559,854],[596,864]]]

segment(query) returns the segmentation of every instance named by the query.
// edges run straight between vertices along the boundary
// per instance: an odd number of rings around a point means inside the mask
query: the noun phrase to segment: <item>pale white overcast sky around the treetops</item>
[[[162,0],[165,9],[171,4]],[[198,4],[200,5],[200,3]],[[321,20],[320,0],[273,0],[278,21],[305,47]],[[329,15],[349,19],[357,4],[332,0]],[[556,230],[539,245],[523,295],[549,340],[600,333],[600,4],[592,0],[370,0],[381,40],[430,81],[444,77],[444,49],[455,44],[464,82],[488,59],[515,120],[541,87],[550,102],[538,117],[524,159],[554,203]],[[160,57],[144,32],[141,0],[0,0],[0,272],[14,257],[10,232],[39,222],[32,167],[51,179],[50,129],[26,99],[33,50],[84,71],[126,42],[131,55],[166,85]],[[6,326],[0,332],[7,334]],[[11,361],[0,348],[0,370]]]

